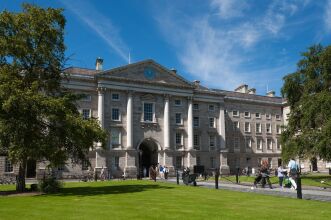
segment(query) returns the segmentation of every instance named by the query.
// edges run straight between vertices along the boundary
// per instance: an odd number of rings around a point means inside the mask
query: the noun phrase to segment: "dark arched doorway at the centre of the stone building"
[[[158,163],[158,145],[152,139],[145,139],[138,146],[139,177],[148,177],[149,168]]]

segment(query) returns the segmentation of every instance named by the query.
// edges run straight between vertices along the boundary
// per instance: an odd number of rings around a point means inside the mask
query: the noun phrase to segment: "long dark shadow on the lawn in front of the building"
[[[107,194],[137,193],[147,190],[172,189],[174,187],[159,185],[120,185],[120,186],[86,186],[62,188],[55,196],[95,196]]]

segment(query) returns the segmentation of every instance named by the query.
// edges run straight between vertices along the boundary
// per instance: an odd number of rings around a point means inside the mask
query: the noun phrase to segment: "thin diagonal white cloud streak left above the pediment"
[[[120,37],[118,29],[112,21],[101,14],[92,4],[87,1],[61,0],[65,9],[70,10],[83,21],[95,34],[101,37],[107,45],[124,61],[128,62],[128,47]]]

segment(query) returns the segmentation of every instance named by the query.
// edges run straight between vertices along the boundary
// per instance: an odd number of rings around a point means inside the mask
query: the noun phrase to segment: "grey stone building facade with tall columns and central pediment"
[[[97,59],[96,70],[65,72],[70,78],[63,84],[86,95],[78,103],[82,117],[98,118],[109,134],[105,148],[88,155],[93,170],[136,177],[159,163],[170,174],[194,165],[225,174],[252,171],[263,159],[272,168],[281,163],[279,138],[287,111],[273,92],[256,95],[247,85],[235,91],[206,88],[153,60],[102,70]],[[45,163],[31,164],[32,173],[45,169]],[[59,171],[69,177],[88,169],[67,164]],[[4,171],[15,172],[15,167],[3,156]]]

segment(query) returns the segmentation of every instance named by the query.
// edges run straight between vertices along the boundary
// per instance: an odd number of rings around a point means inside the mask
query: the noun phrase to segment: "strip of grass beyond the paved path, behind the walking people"
[[[212,179],[212,178],[211,178]],[[239,176],[239,181],[242,183],[253,183],[255,176]],[[235,182],[235,176],[225,176],[224,178],[221,177],[220,180],[228,181],[228,182]],[[278,177],[272,176],[270,177],[271,183],[278,183]],[[324,183],[321,183],[324,181]],[[331,175],[323,175],[323,174],[308,174],[301,176],[301,184],[303,186],[317,186],[317,187],[327,187],[331,188]]]

